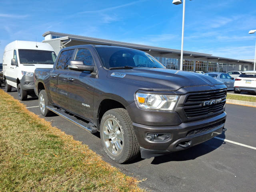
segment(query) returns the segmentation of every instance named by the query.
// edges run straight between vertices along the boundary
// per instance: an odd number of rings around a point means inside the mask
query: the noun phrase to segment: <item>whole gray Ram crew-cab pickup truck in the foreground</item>
[[[34,78],[42,115],[54,112],[100,132],[106,154],[118,163],[184,150],[226,130],[222,82],[166,69],[140,50],[64,48],[54,67],[37,68]]]

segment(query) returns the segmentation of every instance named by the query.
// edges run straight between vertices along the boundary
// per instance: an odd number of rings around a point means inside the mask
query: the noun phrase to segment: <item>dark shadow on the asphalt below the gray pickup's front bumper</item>
[[[225,139],[225,132],[222,132],[222,134],[218,135],[217,137]],[[213,150],[219,148],[222,144],[225,143],[226,142],[224,142],[223,140],[212,138],[206,142],[203,142],[186,150],[155,157],[151,164],[162,164],[170,161],[194,160],[200,156],[212,152]]]

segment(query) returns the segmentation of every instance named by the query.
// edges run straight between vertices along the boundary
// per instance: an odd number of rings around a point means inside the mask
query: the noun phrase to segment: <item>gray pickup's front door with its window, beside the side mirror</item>
[[[86,48],[76,50],[74,60],[80,60],[85,65],[94,66],[92,53]],[[95,78],[95,72],[70,70],[68,74],[68,103],[70,111],[88,120],[93,118]]]

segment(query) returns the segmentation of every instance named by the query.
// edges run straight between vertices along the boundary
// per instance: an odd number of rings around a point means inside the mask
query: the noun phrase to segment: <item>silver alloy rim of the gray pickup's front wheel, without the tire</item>
[[[103,140],[104,144],[112,155],[118,156],[124,146],[124,136],[119,123],[113,119],[108,118],[103,125]]]

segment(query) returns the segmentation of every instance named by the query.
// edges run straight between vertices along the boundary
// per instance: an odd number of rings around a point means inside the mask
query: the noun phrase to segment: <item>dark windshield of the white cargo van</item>
[[[54,64],[56,54],[53,51],[19,49],[20,64]]]

